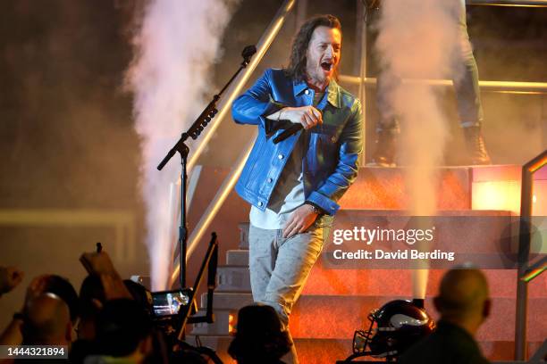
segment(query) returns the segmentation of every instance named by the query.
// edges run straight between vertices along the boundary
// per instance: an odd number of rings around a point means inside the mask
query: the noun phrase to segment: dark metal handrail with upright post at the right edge
[[[547,164],[547,150],[540,153],[532,161],[522,166],[522,185],[520,190],[520,227],[518,239],[518,280],[517,280],[517,312],[515,319],[515,360],[526,360],[526,324],[528,283],[541,273],[530,276],[530,243],[532,239],[530,219],[532,217],[532,203],[534,187],[534,172]],[[540,261],[541,262],[541,261]],[[544,261],[543,261],[544,264]]]

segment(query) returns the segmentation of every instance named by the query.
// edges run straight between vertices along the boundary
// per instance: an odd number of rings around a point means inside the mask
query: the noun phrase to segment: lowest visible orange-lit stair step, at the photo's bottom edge
[[[231,336],[199,336],[203,345],[216,349],[224,364],[235,363],[228,355],[228,346],[233,338]],[[196,343],[195,335],[188,335],[186,342]],[[350,339],[294,339],[299,362],[301,364],[333,364],[336,360],[344,360],[351,354]],[[489,360],[512,360],[515,343],[512,341],[480,341],[479,345],[486,358]],[[528,357],[531,357],[539,348],[541,342],[528,343]],[[367,360],[373,361],[372,358]],[[381,360],[378,360],[381,361]]]

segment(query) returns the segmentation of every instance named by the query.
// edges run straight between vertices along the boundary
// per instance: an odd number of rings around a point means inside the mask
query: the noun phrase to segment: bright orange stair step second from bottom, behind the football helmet
[[[364,328],[371,310],[380,308],[385,302],[408,298],[408,296],[325,296],[303,295],[290,315],[290,333],[299,338],[349,339],[358,328]],[[228,310],[215,310],[213,324],[198,324],[192,335],[228,335],[230,315],[237,316],[239,307]],[[425,307],[434,319],[433,299],[427,298]],[[547,337],[547,297],[528,301],[531,318],[528,322],[528,339],[541,341]],[[477,337],[484,341],[512,340],[514,338],[515,317],[507,316],[515,312],[515,300],[492,297],[492,314],[480,328]]]

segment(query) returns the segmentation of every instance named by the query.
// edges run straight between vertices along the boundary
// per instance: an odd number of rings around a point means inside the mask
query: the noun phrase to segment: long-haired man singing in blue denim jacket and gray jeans
[[[284,70],[265,70],[232,105],[233,120],[257,125],[257,141],[236,185],[252,205],[249,269],[255,302],[272,306],[283,327],[323,249],[337,201],[358,173],[361,104],[334,80],[341,23],[307,21]],[[287,128],[299,131],[274,143]],[[289,361],[298,362],[291,351]]]

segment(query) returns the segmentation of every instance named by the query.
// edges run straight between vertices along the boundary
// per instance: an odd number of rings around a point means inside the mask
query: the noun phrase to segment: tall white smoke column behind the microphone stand
[[[165,289],[173,239],[170,184],[180,156],[156,170],[164,154],[214,92],[209,72],[236,0],[151,0],[133,39],[128,86],[134,93],[135,128],[141,136],[142,193],[147,207],[147,247],[153,290]]]

